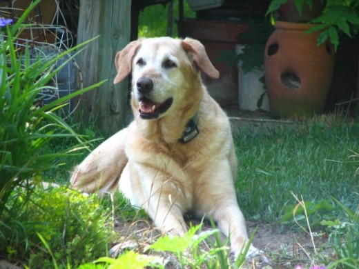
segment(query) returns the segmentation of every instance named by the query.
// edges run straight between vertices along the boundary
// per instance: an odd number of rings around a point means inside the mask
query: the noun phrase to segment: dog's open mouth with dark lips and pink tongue
[[[173,98],[168,98],[163,103],[156,103],[151,99],[142,97],[139,100],[139,117],[142,119],[157,119],[171,107]]]

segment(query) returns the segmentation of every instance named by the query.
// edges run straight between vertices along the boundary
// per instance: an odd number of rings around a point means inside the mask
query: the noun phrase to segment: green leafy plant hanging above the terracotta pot
[[[271,1],[266,14],[272,14],[287,1],[289,0]],[[308,33],[321,31],[318,37],[318,45],[329,38],[335,50],[337,50],[340,42],[340,32],[350,38],[359,32],[359,2],[357,0],[327,0],[322,2],[325,3],[322,14],[309,21],[309,23],[318,23],[318,26],[313,26],[308,30]],[[313,0],[295,0],[294,3],[298,12],[301,13],[303,6],[307,4],[311,7]]]

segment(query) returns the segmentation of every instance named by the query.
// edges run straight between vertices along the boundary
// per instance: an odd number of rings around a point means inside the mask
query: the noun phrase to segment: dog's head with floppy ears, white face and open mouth
[[[132,72],[133,106],[142,119],[158,119],[200,88],[200,71],[212,79],[220,73],[195,39],[160,37],[133,41],[117,52],[119,83]],[[191,92],[195,95],[196,92]]]

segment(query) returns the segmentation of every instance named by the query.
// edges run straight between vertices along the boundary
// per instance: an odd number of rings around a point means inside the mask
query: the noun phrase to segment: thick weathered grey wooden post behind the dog
[[[118,0],[80,0],[77,41],[93,37],[77,59],[84,87],[107,81],[99,88],[84,94],[77,119],[86,123],[93,120],[97,128],[113,134],[124,127],[128,83],[113,84],[115,54],[130,41],[130,2]]]

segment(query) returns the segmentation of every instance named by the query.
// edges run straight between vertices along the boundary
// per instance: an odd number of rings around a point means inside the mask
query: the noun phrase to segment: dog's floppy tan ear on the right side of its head
[[[186,50],[186,52],[191,52],[193,63],[195,63],[197,68],[200,68],[204,74],[211,77],[211,79],[218,79],[220,77],[220,72],[215,69],[209,60],[206,49],[200,41],[187,37],[182,41],[182,48]]]

